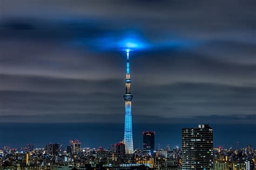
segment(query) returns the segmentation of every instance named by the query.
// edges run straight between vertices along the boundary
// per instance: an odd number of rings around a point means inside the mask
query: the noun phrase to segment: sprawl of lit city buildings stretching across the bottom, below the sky
[[[129,59],[127,59],[129,61]],[[127,80],[127,79],[126,79]],[[129,84],[130,85],[130,84]],[[130,86],[129,86],[130,87]],[[126,84],[126,94],[127,94]],[[125,113],[127,114],[127,112]],[[131,113],[129,113],[131,114]],[[104,131],[106,132],[106,131]],[[125,129],[124,132],[127,132]],[[128,131],[129,132],[129,131]],[[155,148],[156,132],[143,132],[143,147],[130,148],[128,140],[109,147],[85,147],[78,139],[69,140],[69,145],[47,143],[45,147],[26,144],[19,148],[3,146],[0,149],[2,169],[173,169],[173,170],[253,170],[256,150],[251,144],[246,147],[214,147],[214,130],[210,125],[199,124],[197,128],[181,129],[181,148],[178,146]],[[55,136],[57,136],[55,134]],[[103,136],[100,136],[104,138]],[[48,136],[49,138],[49,136]],[[225,136],[224,140],[227,139]],[[104,139],[105,140],[105,139]],[[104,140],[100,140],[101,142]],[[128,145],[129,147],[127,147]],[[132,150],[132,151],[131,151]]]

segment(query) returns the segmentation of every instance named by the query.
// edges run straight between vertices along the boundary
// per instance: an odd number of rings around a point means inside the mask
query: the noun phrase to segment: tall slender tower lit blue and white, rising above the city
[[[125,79],[125,123],[124,123],[124,143],[125,153],[133,153],[133,139],[132,139],[132,97],[131,94],[131,79],[130,79],[130,63],[129,63],[129,49],[126,50],[126,79]]]

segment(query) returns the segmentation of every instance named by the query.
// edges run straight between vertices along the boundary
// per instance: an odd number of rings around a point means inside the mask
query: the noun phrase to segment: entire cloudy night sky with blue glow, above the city
[[[0,1],[0,147],[123,138],[130,52],[134,145],[210,124],[256,147],[255,1]],[[238,143],[237,143],[238,142]]]

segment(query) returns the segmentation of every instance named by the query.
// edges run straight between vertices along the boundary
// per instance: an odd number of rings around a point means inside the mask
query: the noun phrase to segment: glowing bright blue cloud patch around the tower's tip
[[[139,33],[126,33],[126,34],[104,34],[101,37],[78,38],[72,42],[72,45],[88,47],[93,51],[120,51],[130,50],[136,51],[158,51],[163,49],[189,47],[194,42],[169,37],[165,40],[150,41]]]

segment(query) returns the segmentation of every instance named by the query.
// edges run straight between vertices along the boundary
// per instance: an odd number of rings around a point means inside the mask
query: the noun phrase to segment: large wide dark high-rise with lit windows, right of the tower
[[[182,169],[213,169],[213,129],[198,125],[181,131]]]

